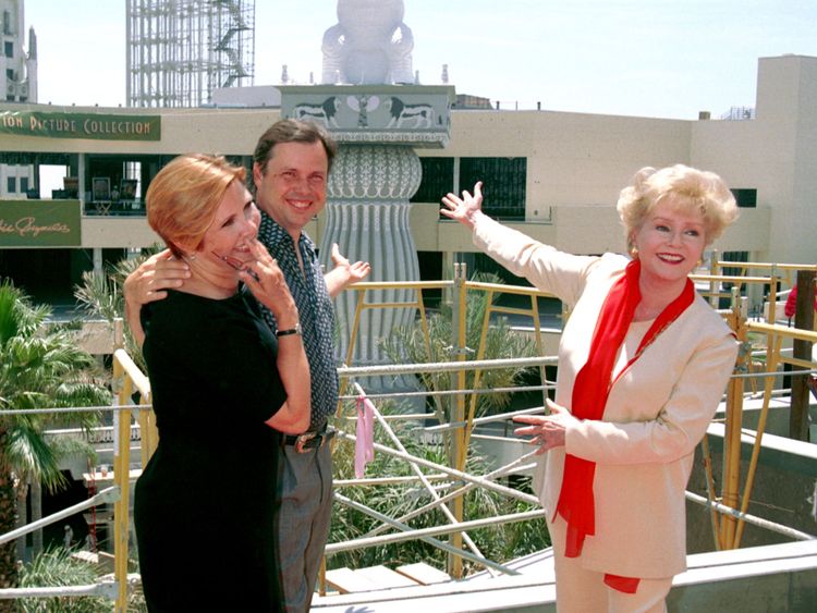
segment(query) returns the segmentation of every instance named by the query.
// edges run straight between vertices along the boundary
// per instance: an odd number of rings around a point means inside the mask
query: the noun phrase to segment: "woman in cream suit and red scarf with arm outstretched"
[[[542,454],[534,487],[559,611],[664,611],[685,569],[694,450],[737,353],[687,275],[736,217],[734,198],[710,172],[642,169],[618,204],[631,257],[574,256],[510,230],[481,212],[480,183],[442,201],[476,246],[572,309],[550,414],[516,418]]]

